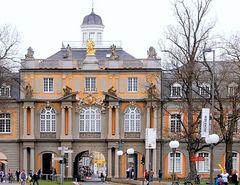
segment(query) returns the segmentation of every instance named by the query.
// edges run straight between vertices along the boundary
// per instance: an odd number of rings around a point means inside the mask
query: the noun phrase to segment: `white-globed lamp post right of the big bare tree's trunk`
[[[205,138],[205,141],[207,144],[209,144],[210,148],[210,185],[213,184],[213,149],[214,144],[216,144],[219,141],[219,136],[217,134],[211,134],[208,137]]]

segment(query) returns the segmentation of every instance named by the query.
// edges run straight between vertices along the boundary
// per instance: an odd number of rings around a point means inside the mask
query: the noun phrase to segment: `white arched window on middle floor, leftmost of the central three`
[[[40,132],[56,132],[56,111],[51,107],[41,111]]]

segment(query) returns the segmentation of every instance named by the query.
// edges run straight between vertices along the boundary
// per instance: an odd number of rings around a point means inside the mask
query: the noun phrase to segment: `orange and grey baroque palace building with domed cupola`
[[[43,60],[35,59],[30,47],[19,74],[13,74],[20,86],[2,84],[1,100],[8,101],[0,113],[0,170],[60,174],[62,158],[68,178],[79,179],[89,169],[109,178],[126,178],[127,169],[134,169],[134,179],[142,177],[144,169],[153,169],[155,177],[161,170],[163,178],[171,178],[169,132],[180,132],[181,120],[187,119],[179,110],[181,83],[169,81],[153,47],[146,59],[136,59],[122,49],[121,42],[103,41],[104,25],[93,10],[84,17],[81,30],[82,42],[64,42],[60,51]],[[145,144],[149,128],[156,130],[154,149]],[[128,155],[130,148],[134,154]],[[238,148],[235,143],[237,170]],[[118,150],[123,151],[121,156]],[[224,162],[224,145],[216,151],[215,168]],[[208,176],[209,149],[198,156],[205,157],[198,172]],[[184,142],[175,159],[175,173],[186,177],[189,161]]]

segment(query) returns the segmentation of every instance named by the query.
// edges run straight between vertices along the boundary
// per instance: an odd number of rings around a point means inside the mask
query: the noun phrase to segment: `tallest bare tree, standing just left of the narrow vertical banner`
[[[200,145],[202,140],[196,127],[200,117],[199,103],[196,102],[194,86],[202,75],[199,62],[205,43],[210,40],[210,32],[214,22],[207,21],[207,14],[212,0],[176,0],[174,4],[176,25],[169,26],[166,32],[166,40],[163,40],[161,48],[170,67],[174,81],[182,85],[181,103],[176,105],[181,112],[187,114],[186,123],[182,123],[184,141],[189,153],[191,177],[197,174],[196,164],[191,160],[196,152],[206,145]],[[203,106],[207,101],[200,103]],[[199,115],[196,119],[196,113]],[[179,137],[179,136],[178,136]]]

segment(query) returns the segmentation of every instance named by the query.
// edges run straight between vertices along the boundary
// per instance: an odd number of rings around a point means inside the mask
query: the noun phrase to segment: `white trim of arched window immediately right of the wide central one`
[[[133,130],[130,129],[131,126],[131,119],[129,116],[128,122],[126,119],[127,111],[130,109],[130,115],[134,115],[134,128]],[[134,109],[134,110],[133,110]],[[133,112],[134,111],[134,112]],[[128,113],[129,114],[129,113]],[[136,119],[137,115],[139,114],[139,119]],[[137,121],[139,121],[139,130],[137,129]],[[128,124],[128,130],[126,125]],[[124,111],[124,132],[141,132],[141,111],[138,107],[127,107]]]

